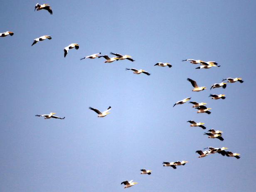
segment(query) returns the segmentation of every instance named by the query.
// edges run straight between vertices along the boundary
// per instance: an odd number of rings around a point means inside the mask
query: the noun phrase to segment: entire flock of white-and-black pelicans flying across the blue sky
[[[37,3],[37,5],[34,8],[34,10],[37,10],[37,11],[42,10],[42,9],[47,10],[52,15],[52,8],[49,6],[49,4],[39,5]],[[4,32],[4,33],[0,33],[0,37],[6,37],[7,35],[12,36],[13,34],[14,34],[13,32],[7,31],[7,32]],[[37,42],[43,41],[45,39],[52,39],[52,37],[49,36],[49,35],[44,35],[42,37],[36,38],[36,39],[34,39],[34,42],[33,42],[32,46],[34,44],[36,44]],[[73,48],[79,49],[79,44],[72,43],[72,44],[69,44],[69,46],[65,47],[64,48],[64,57],[66,57],[66,55],[68,54],[69,49],[73,49]],[[133,58],[130,55],[121,55],[121,54],[116,54],[116,53],[110,52],[110,54],[115,55],[116,57],[108,57],[108,55],[100,55],[100,54],[101,53],[92,54],[92,55],[89,55],[87,57],[81,58],[80,60],[82,60],[82,59],[95,59],[97,57],[98,58],[103,57],[103,58],[106,59],[105,63],[111,63],[111,62],[114,62],[114,61],[117,61],[117,60],[123,60],[123,59],[128,59],[131,62],[135,61],[135,60],[133,60]],[[217,66],[217,67],[220,66],[216,62],[213,62],[213,61],[204,62],[202,60],[194,60],[194,59],[186,59],[186,60],[182,60],[182,61],[183,62],[184,61],[189,61],[192,64],[201,64],[201,66],[199,66],[199,67],[197,67],[195,69],[209,69],[212,66]],[[155,64],[155,66],[162,66],[162,67],[168,66],[169,68],[172,67],[172,65],[169,64],[169,63],[160,63],[160,62]],[[143,69],[138,70],[138,69],[133,69],[133,68],[131,68],[131,69],[126,68],[126,70],[132,70],[132,71],[134,71],[133,72],[134,74],[144,73],[144,74],[146,74],[148,76],[150,75],[150,73],[148,73],[147,71],[145,71]],[[225,80],[227,80],[229,83],[235,83],[236,81],[239,81],[240,83],[244,82],[241,78],[234,78],[234,79],[233,78],[226,78],[226,79],[223,79],[222,81],[225,81]],[[203,91],[204,89],[207,89],[205,86],[199,87],[197,85],[197,82],[192,80],[192,79],[188,78],[187,81],[190,81],[190,83],[194,87],[194,89],[192,91]],[[218,84],[213,84],[210,89],[215,89],[215,88],[219,88],[219,87],[222,87],[223,89],[225,89],[226,88],[226,83],[221,82],[221,83],[218,83]],[[220,99],[220,98],[225,99],[225,95],[224,94],[219,94],[219,95],[217,95],[217,94],[210,94],[209,97],[212,97],[212,99]],[[183,99],[181,101],[177,101],[177,103],[175,103],[173,105],[173,107],[176,106],[176,105],[184,104],[187,101],[189,101],[190,99],[191,99],[191,97],[190,98],[185,98],[185,99]],[[198,103],[196,101],[190,101],[190,103],[193,104],[193,106],[192,106],[193,108],[198,109],[197,113],[211,114],[211,112],[209,111],[211,108],[207,108],[205,106],[207,103],[204,103],[204,102]],[[105,117],[105,116],[107,116],[109,114],[109,111],[111,110],[111,106],[109,106],[107,108],[107,110],[103,111],[103,112],[99,111],[96,108],[92,108],[92,107],[89,107],[89,109],[91,109],[92,111],[96,112],[98,114],[98,117]],[[61,117],[58,117],[58,116],[54,116],[54,114],[56,114],[56,113],[50,113],[50,114],[44,114],[44,115],[36,115],[36,116],[44,117],[45,119],[49,119],[49,118],[64,119],[65,118],[65,117],[61,118]],[[187,121],[187,122],[191,123],[190,126],[192,126],[192,127],[197,127],[198,126],[198,127],[202,128],[202,129],[206,129],[206,127],[204,126],[204,123],[201,123],[201,122],[197,123],[197,122],[195,122],[193,120]],[[221,141],[224,140],[224,138],[222,138],[222,133],[223,133],[222,131],[210,129],[210,130],[208,130],[208,132],[209,133],[204,133],[204,135],[208,135],[208,138],[218,138]],[[206,157],[207,155],[214,154],[214,153],[219,153],[219,154],[221,154],[223,156],[226,155],[227,157],[235,157],[237,159],[240,158],[239,157],[239,155],[240,155],[239,153],[232,153],[231,151],[226,151],[226,149],[228,149],[226,147],[222,147],[222,148],[208,147],[208,148],[204,148],[204,149],[207,149],[207,150],[205,150],[205,151],[197,150],[196,151],[196,153],[199,154],[199,158],[203,158],[203,157]],[[163,166],[167,166],[167,167],[170,166],[173,169],[176,169],[177,168],[176,166],[185,165],[187,162],[188,161],[163,162]],[[142,169],[140,171],[142,171],[140,174],[148,174],[148,175],[150,175],[151,172],[152,172],[151,170],[145,170],[145,169]],[[121,185],[122,184],[125,185],[124,188],[127,188],[127,187],[131,187],[131,186],[137,184],[137,182],[133,182],[133,180],[131,180],[131,181],[126,180],[126,181],[121,182]]]

